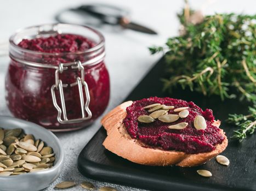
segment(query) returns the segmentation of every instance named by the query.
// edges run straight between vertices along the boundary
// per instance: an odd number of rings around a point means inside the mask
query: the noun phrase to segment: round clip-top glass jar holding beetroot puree
[[[95,44],[78,52],[45,53],[18,46],[22,39],[75,34]],[[93,28],[56,23],[21,29],[10,37],[5,99],[15,117],[52,131],[88,126],[106,109],[110,97],[105,40]]]

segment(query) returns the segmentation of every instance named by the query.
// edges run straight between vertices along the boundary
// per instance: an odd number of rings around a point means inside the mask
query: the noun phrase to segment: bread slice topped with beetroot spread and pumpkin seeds
[[[172,98],[125,102],[101,123],[103,145],[118,156],[145,165],[196,166],[225,150],[227,138],[212,110]]]

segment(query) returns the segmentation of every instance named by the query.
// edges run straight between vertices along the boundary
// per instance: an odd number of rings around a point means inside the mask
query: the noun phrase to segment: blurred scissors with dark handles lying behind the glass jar
[[[78,8],[73,8],[65,11],[73,11],[81,16],[85,16],[86,19],[98,20],[101,24],[107,24],[111,26],[121,26],[126,29],[132,29],[147,34],[157,34],[152,29],[139,25],[138,23],[129,20],[129,11],[119,7],[115,7],[109,4],[87,4]],[[62,11],[55,16],[58,22],[65,22],[62,18]]]

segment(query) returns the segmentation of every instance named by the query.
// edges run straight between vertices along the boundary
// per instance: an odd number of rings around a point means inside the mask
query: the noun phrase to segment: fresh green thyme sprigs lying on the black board
[[[169,78],[164,89],[189,87],[205,96],[256,100],[256,15],[215,14],[202,17],[200,11],[185,9],[178,14],[179,37],[151,53],[164,52]],[[250,111],[252,108],[250,109]],[[242,120],[240,120],[240,118]],[[255,129],[255,116],[231,115],[239,130],[234,138],[244,139]]]

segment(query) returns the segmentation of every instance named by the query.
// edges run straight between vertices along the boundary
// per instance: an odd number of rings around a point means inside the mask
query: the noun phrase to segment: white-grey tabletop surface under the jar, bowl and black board
[[[18,28],[51,23],[54,14],[61,9],[76,7],[77,5],[95,1],[82,0],[8,0],[0,5],[0,54],[5,50],[1,44],[8,42],[9,36]],[[98,1],[97,2],[104,2]],[[192,7],[203,9],[205,14],[236,13],[255,14],[256,1],[190,1]],[[106,2],[105,2],[106,3]],[[143,23],[157,30],[159,35],[147,35],[133,31],[113,31],[99,29],[106,38],[106,64],[111,76],[111,99],[106,110],[109,111],[121,103],[133,87],[142,79],[150,67],[161,55],[150,56],[147,47],[153,44],[163,44],[167,37],[178,34],[178,20],[176,13],[183,7],[183,1],[146,1],[109,0],[107,3],[126,7],[131,11],[132,20]],[[0,115],[11,115],[5,105],[4,76],[8,67],[8,56],[0,56]],[[99,129],[97,120],[92,126],[70,133],[56,133],[66,153],[64,169],[60,177],[46,190],[53,190],[56,183],[73,180],[77,183],[88,180],[79,174],[76,165],[79,152]],[[93,181],[97,186],[113,186],[118,190],[140,190],[105,182]],[[1,189],[1,187],[0,187]],[[82,190],[79,187],[67,190]]]

